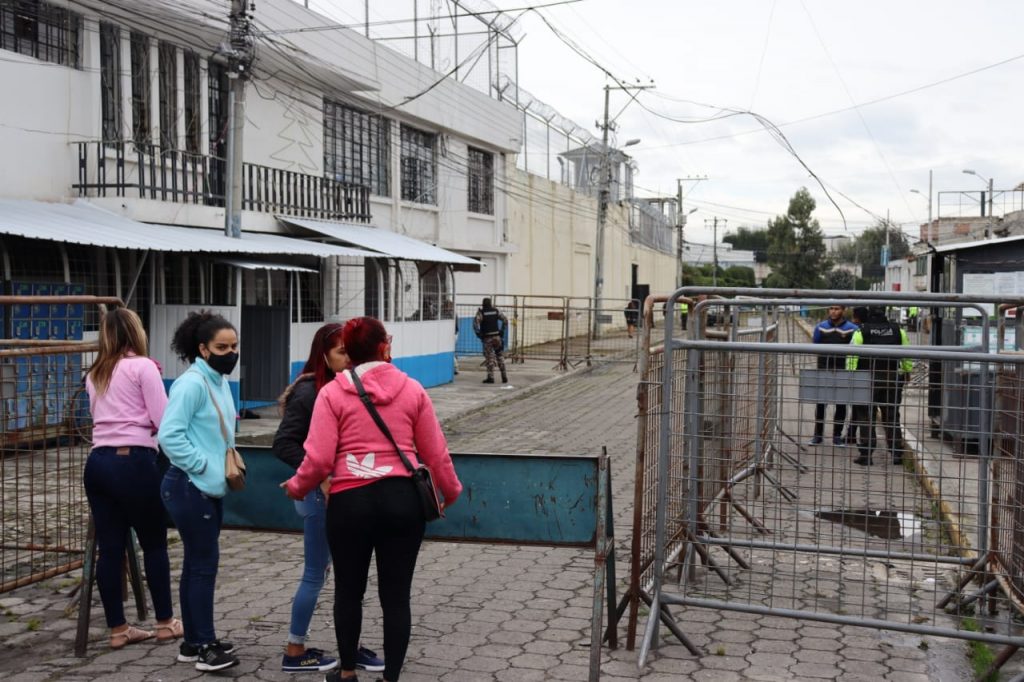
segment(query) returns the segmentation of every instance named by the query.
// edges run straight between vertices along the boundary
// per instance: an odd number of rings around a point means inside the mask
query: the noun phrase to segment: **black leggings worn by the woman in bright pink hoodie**
[[[332,495],[327,540],[334,561],[334,630],[342,670],[355,670],[370,556],[377,556],[384,612],[384,679],[398,682],[413,616],[410,591],[426,522],[410,478],[390,477]]]

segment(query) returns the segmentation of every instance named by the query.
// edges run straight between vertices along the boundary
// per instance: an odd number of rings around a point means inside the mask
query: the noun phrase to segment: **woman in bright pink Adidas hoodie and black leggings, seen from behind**
[[[352,383],[366,387],[398,446],[413,466],[430,467],[444,505],[462,483],[430,397],[415,379],[390,364],[391,337],[374,317],[356,317],[342,332],[352,370],[339,374],[316,397],[305,459],[286,481],[288,496],[303,499],[329,475],[328,544],[334,562],[334,625],[341,671],[326,680],[355,678],[362,624],[362,595],[371,556],[377,557],[384,613],[384,680],[398,682],[412,630],[410,592],[426,521],[409,470],[377,427]]]

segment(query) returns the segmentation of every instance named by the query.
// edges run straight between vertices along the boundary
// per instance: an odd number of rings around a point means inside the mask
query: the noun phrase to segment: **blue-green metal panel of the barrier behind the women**
[[[280,484],[292,476],[269,447],[239,449],[246,489],[224,499],[224,524],[301,530],[302,519]],[[446,541],[593,547],[597,538],[596,456],[453,453],[465,491],[447,517],[427,525]]]

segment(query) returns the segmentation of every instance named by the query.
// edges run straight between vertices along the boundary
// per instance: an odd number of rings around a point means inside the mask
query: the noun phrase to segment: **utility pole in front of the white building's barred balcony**
[[[246,81],[253,60],[248,0],[231,0],[230,28],[220,54],[227,57],[227,160],[225,165],[224,235],[242,237],[242,160],[246,127]]]

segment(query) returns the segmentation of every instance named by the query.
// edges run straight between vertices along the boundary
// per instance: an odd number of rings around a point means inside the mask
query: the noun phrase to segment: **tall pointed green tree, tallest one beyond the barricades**
[[[821,225],[811,214],[817,204],[807,187],[790,200],[785,215],[768,221],[768,264],[772,273],[767,287],[820,289],[831,268]]]

